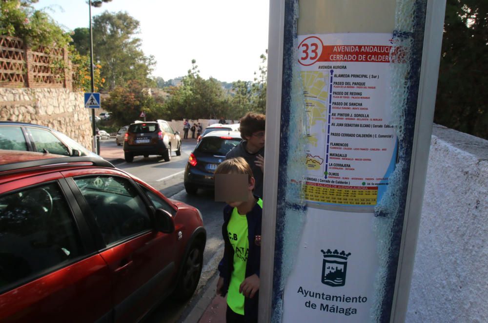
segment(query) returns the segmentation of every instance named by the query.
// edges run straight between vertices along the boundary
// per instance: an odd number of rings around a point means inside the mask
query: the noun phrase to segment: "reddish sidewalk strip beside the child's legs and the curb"
[[[183,323],[225,323],[227,302],[224,297],[215,295],[218,280],[219,275],[208,281],[208,289]]]

